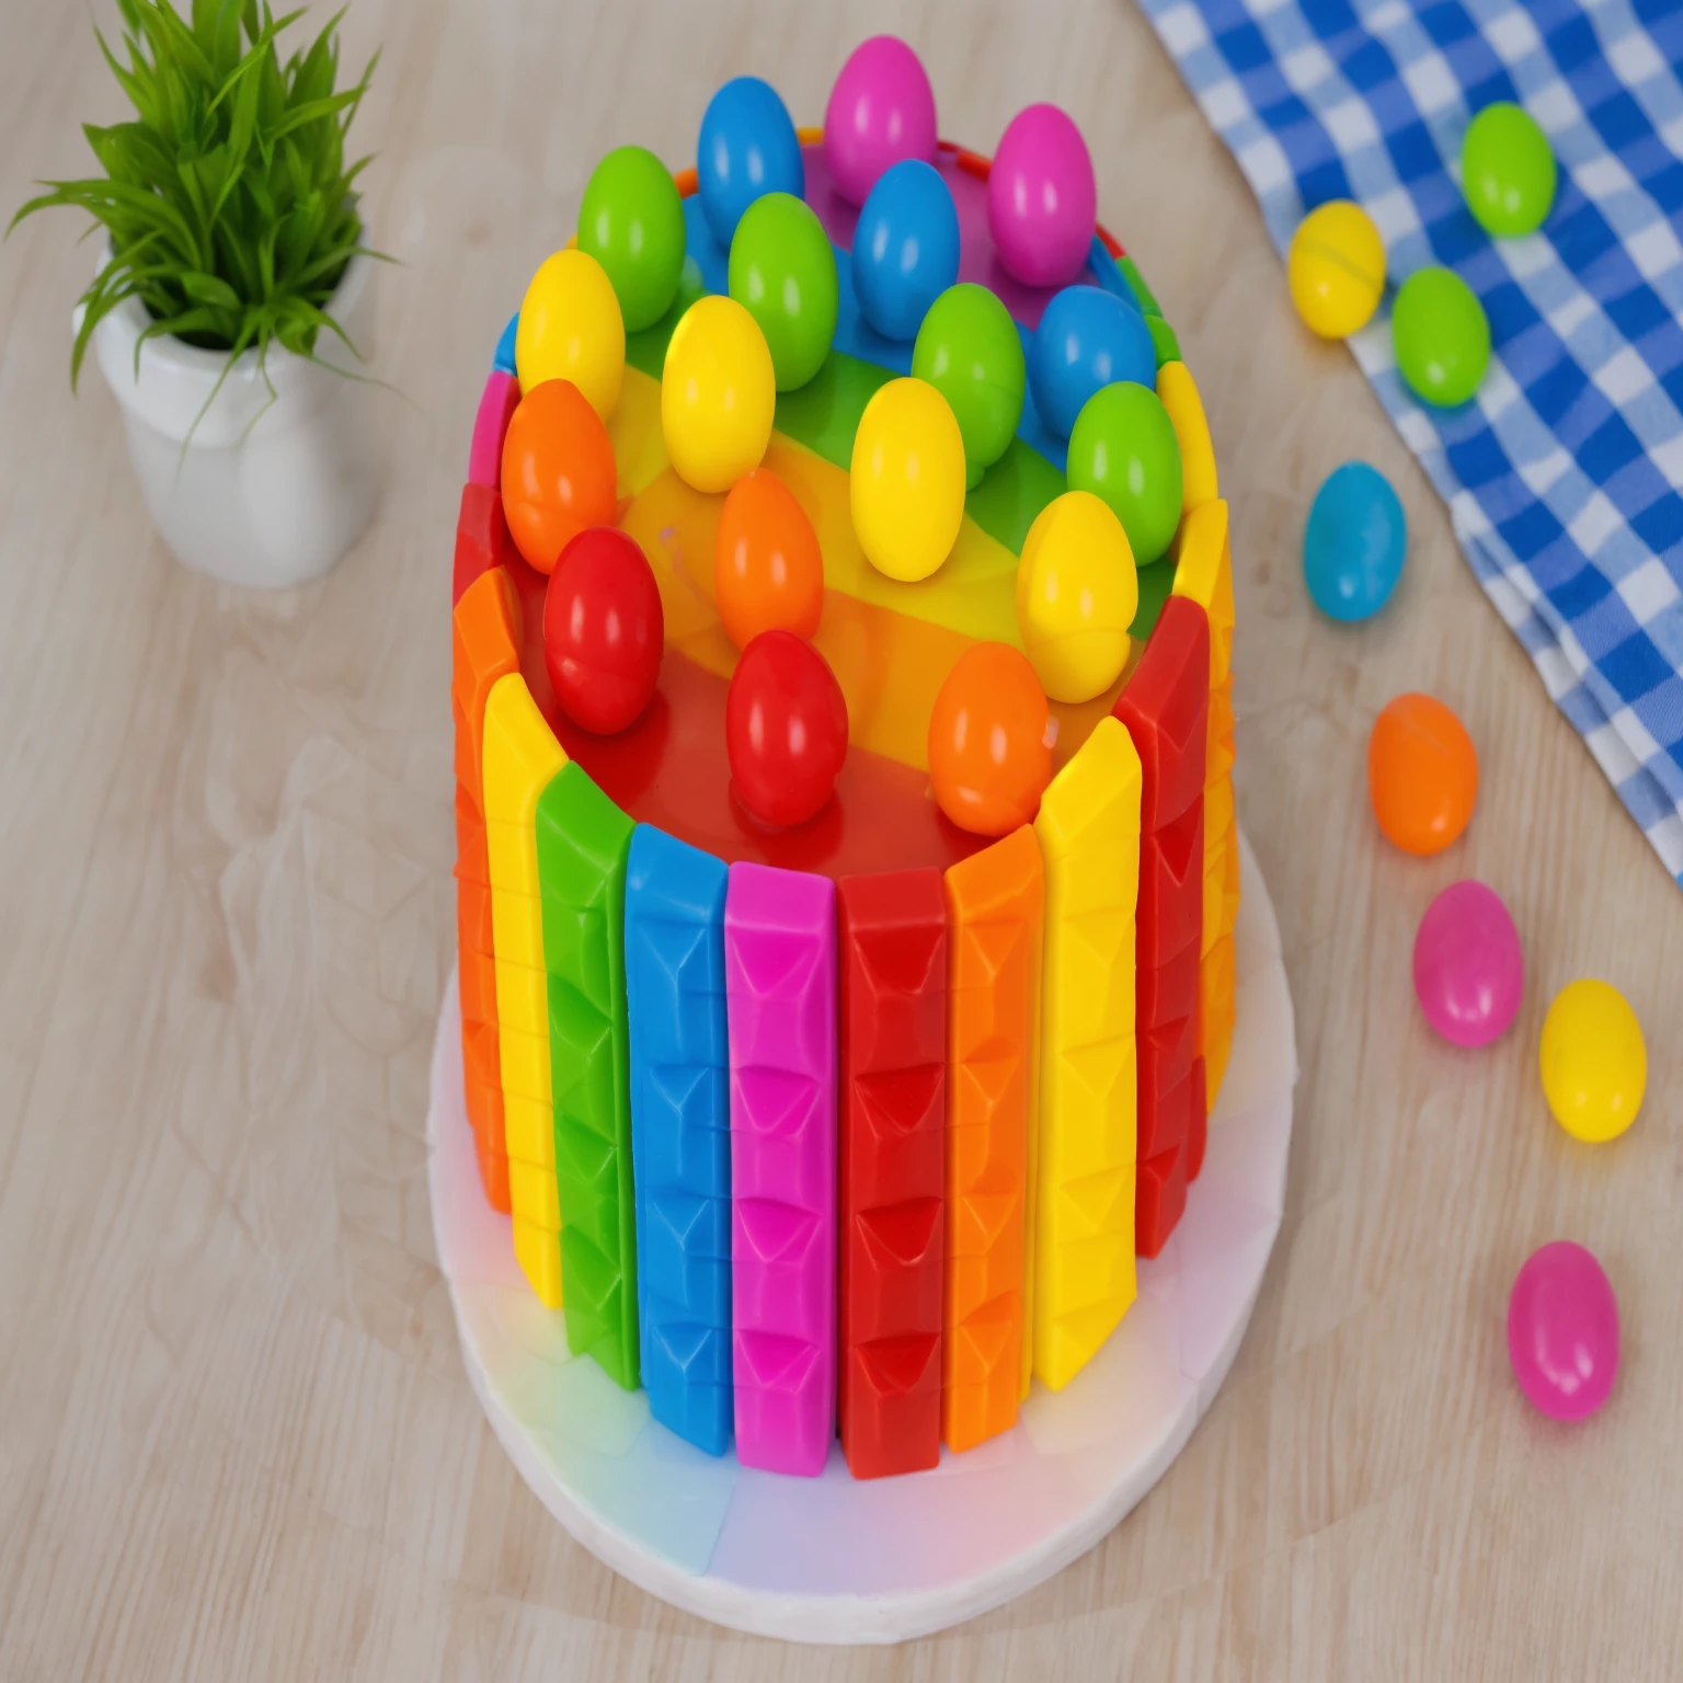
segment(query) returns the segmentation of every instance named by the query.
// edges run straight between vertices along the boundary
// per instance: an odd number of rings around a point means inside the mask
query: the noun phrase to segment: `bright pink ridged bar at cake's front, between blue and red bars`
[[[835,884],[732,865],[730,1303],[742,1466],[815,1478],[835,1437]]]

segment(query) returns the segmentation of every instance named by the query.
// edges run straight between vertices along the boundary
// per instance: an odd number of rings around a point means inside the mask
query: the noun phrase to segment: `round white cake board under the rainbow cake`
[[[902,1478],[816,1479],[702,1454],[567,1350],[485,1200],[461,1096],[456,980],[427,1116],[439,1264],[473,1388],[520,1476],[597,1558],[717,1624],[796,1643],[894,1643],[998,1607],[1086,1553],[1163,1476],[1227,1377],[1279,1232],[1298,1079],[1279,929],[1244,838],[1239,1025],[1203,1173],[1139,1298],[1062,1392]]]

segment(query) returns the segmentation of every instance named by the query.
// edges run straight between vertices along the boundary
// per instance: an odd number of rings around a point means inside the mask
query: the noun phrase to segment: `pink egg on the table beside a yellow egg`
[[[1520,1010],[1525,956],[1501,897],[1483,882],[1452,882],[1426,909],[1414,937],[1414,993],[1451,1045],[1484,1047]]]

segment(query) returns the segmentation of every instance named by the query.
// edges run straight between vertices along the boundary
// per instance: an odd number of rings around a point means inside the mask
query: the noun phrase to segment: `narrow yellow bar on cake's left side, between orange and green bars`
[[[485,828],[496,946],[498,1052],[508,1119],[515,1257],[539,1299],[560,1308],[560,1217],[550,1097],[544,922],[537,885],[537,799],[567,756],[525,678],[508,673],[485,703]]]

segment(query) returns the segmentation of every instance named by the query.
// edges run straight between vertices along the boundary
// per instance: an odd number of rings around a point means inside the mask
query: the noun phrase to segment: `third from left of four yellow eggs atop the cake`
[[[853,532],[890,579],[927,579],[964,523],[964,438],[953,406],[927,382],[889,380],[853,434]]]

